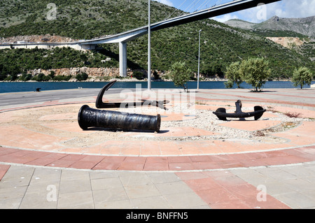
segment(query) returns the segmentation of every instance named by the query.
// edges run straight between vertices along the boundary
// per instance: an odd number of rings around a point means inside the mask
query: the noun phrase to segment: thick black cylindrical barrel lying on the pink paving
[[[161,115],[139,115],[112,110],[97,110],[85,105],[78,113],[81,129],[102,127],[108,129],[138,129],[160,131]]]

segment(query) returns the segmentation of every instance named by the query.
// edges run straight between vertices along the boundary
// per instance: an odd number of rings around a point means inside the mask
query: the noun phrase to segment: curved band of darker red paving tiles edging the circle
[[[166,157],[66,154],[13,148],[0,150],[0,162],[3,163],[118,171],[202,171],[310,161],[315,161],[315,146],[265,152]]]

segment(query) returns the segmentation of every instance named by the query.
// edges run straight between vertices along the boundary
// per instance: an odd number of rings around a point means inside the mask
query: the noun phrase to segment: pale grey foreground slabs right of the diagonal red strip
[[[263,185],[267,194],[286,203],[290,208],[314,209],[314,167],[313,162],[231,172],[255,187]]]

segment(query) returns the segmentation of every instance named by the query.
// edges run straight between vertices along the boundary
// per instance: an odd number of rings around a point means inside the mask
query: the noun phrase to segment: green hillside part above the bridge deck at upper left
[[[1,0],[0,36],[59,34],[90,39],[148,24],[147,0],[55,0],[55,8],[51,2]],[[164,20],[174,11],[157,1],[152,1],[151,8],[151,22]]]

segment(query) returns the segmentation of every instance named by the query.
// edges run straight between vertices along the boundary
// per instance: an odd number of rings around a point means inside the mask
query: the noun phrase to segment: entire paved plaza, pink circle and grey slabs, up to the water
[[[167,99],[167,110],[108,109],[160,114],[160,131],[83,131],[78,111],[98,91],[0,95],[16,99],[0,107],[0,208],[315,208],[315,89],[113,89],[104,102]],[[267,111],[213,114],[237,100]]]

